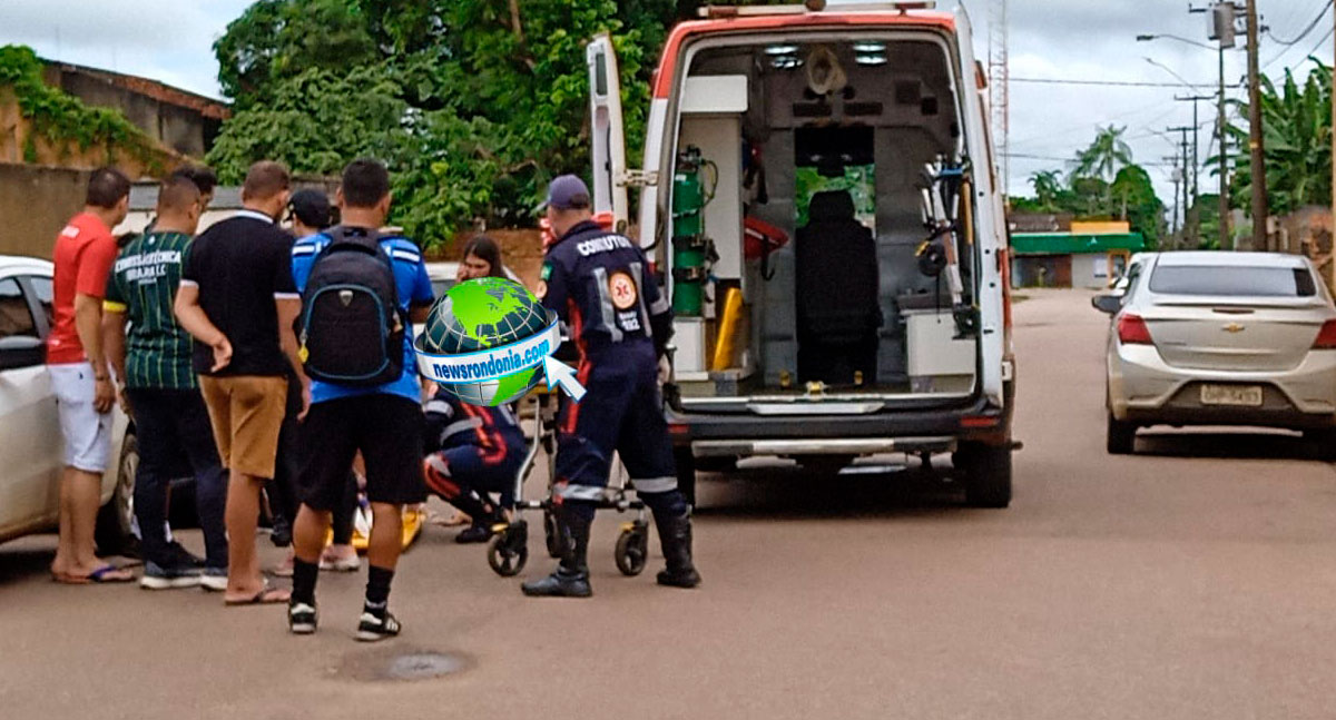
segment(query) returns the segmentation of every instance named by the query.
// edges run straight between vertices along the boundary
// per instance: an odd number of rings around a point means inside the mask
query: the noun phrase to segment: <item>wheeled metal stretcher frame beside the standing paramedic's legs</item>
[[[505,522],[492,526],[492,540],[488,541],[488,565],[502,577],[513,577],[524,570],[529,561],[529,522],[525,512],[542,513],[542,534],[548,556],[560,557],[561,545],[557,537],[557,522],[553,516],[553,477],[557,457],[557,394],[546,387],[537,387],[525,397],[525,403],[533,407],[532,438],[529,452],[520,465],[514,478],[514,508],[509,508]],[[548,488],[541,500],[524,500],[524,485],[538,466],[538,456],[545,456],[548,465]],[[593,501],[599,510],[616,510],[619,514],[633,513],[633,518],[621,524],[613,560],[617,570],[628,577],[637,576],[649,560],[649,521],[645,504],[631,488],[629,476],[620,460],[612,462],[612,477],[603,496]]]

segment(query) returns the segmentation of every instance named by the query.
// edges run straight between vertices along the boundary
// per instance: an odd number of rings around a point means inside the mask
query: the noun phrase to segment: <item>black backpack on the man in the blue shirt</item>
[[[302,293],[298,342],[306,374],[350,387],[375,387],[403,374],[403,333],[394,263],[371,230],[325,231]]]

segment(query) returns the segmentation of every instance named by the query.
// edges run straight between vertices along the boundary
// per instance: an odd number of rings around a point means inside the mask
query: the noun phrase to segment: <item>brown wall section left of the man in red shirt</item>
[[[56,234],[83,208],[88,172],[0,164],[0,254],[51,259]]]

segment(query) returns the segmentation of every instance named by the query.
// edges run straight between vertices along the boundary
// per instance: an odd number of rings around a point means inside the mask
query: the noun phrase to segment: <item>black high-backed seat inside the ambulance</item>
[[[858,222],[848,191],[812,196],[795,242],[798,378],[876,382],[879,271],[872,231]]]

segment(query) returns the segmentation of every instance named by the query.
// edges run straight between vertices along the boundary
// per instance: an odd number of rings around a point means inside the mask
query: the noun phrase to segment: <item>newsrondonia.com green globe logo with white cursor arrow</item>
[[[477,278],[436,301],[414,341],[418,371],[454,398],[488,407],[514,402],[544,378],[576,401],[584,387],[554,361],[561,345],[556,314],[522,285]]]

